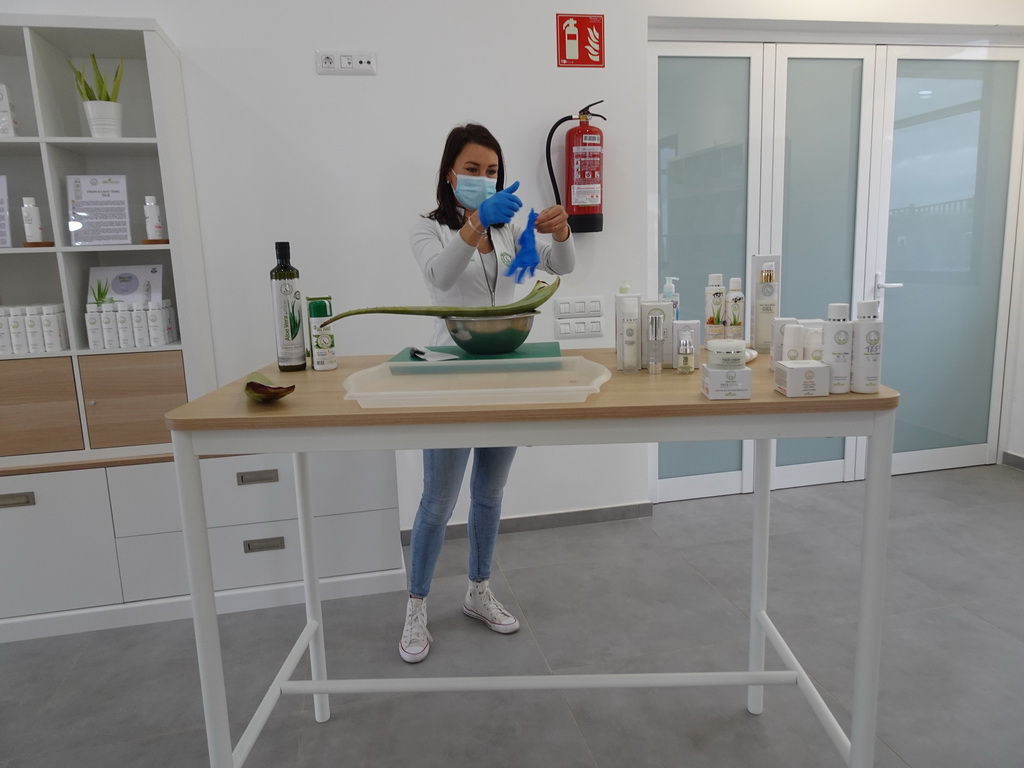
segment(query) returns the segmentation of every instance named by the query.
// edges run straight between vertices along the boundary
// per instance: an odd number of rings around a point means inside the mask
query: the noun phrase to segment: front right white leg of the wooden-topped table
[[[860,615],[853,672],[853,723],[850,768],[874,764],[874,729],[882,660],[882,621],[889,536],[889,490],[892,485],[895,411],[880,412],[867,440],[864,529],[860,565]]]

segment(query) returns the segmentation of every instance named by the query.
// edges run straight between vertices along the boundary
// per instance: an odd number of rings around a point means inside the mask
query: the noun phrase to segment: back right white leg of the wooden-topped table
[[[754,546],[751,556],[751,645],[748,670],[764,672],[765,631],[758,614],[768,609],[768,512],[771,506],[771,438],[754,441]],[[746,711],[764,710],[764,686],[746,689]]]

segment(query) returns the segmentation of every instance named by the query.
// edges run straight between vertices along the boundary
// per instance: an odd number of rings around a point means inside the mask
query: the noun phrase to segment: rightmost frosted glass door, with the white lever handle
[[[1014,51],[946,55],[889,51],[891,177],[878,271],[903,284],[883,307],[883,379],[901,393],[897,472],[995,459],[1021,59]]]

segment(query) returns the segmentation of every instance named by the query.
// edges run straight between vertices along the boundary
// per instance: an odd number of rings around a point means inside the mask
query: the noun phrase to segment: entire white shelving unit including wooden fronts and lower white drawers
[[[89,135],[66,59],[126,59],[123,138]],[[91,80],[91,78],[90,78]],[[0,14],[0,82],[15,137],[0,137],[12,244],[34,197],[52,247],[0,249],[0,305],[67,308],[71,348],[0,356],[0,642],[190,615],[164,414],[215,388],[181,67],[150,19]],[[75,247],[67,177],[124,174],[133,245]],[[170,243],[145,245],[158,198]],[[93,266],[160,264],[181,341],[91,351]],[[354,460],[353,460],[354,457]],[[221,610],[301,602],[291,457],[204,460]],[[251,482],[253,473],[275,480]],[[403,589],[394,456],[317,457],[315,521],[326,597]],[[272,484],[271,484],[272,483]]]

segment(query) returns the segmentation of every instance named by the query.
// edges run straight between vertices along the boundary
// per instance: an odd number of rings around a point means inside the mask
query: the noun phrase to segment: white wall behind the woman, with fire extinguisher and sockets
[[[4,6],[85,12],[75,0]],[[556,11],[605,15],[605,69],[555,67]],[[605,229],[578,236],[579,265],[562,290],[610,296],[628,279],[655,292],[645,284],[648,16],[1024,25],[1019,0],[93,0],[88,13],[156,18],[181,52],[220,383],[272,358],[266,292],[276,240],[291,241],[307,290],[333,294],[336,307],[426,303],[408,230],[432,206],[442,142],[460,122],[487,125],[525,204],[546,206],[549,128],[605,99]],[[316,48],[375,51],[379,74],[318,77]],[[540,326],[549,338],[550,323]],[[422,340],[427,325],[370,315],[336,328],[341,353],[389,353]],[[1020,409],[1024,371],[1014,391]],[[1021,421],[1010,444],[1024,454]],[[590,482],[602,475],[595,463],[614,471],[613,488]],[[510,487],[522,500],[509,514],[649,500],[640,446],[524,452],[513,482],[544,478],[551,466],[562,482],[541,498]]]

